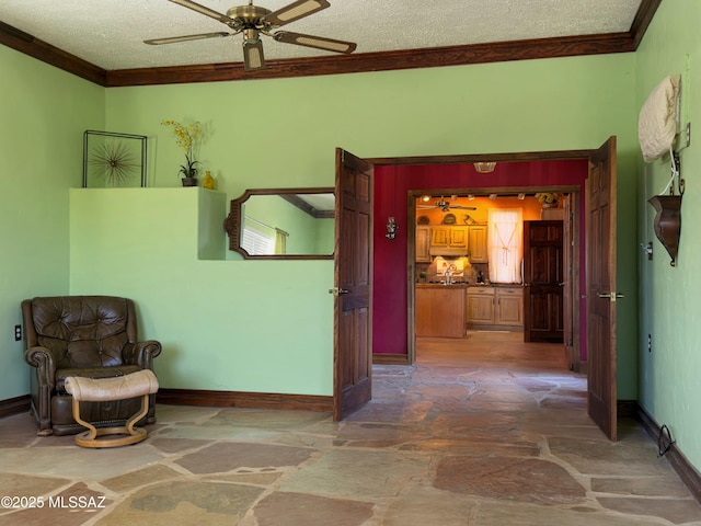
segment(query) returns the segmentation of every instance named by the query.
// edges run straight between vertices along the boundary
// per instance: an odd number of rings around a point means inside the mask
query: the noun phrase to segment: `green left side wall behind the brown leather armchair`
[[[68,188],[82,184],[82,138],[104,127],[105,90],[0,46],[0,400],[28,392],[20,302],[64,295]]]

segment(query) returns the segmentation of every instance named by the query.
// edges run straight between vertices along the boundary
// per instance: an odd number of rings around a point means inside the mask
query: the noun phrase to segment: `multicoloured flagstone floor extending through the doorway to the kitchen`
[[[1,419],[0,524],[701,526],[641,427],[610,443],[561,346],[519,340],[420,339],[416,365],[375,366],[374,400],[340,423],[159,405],[145,442],[85,449]]]

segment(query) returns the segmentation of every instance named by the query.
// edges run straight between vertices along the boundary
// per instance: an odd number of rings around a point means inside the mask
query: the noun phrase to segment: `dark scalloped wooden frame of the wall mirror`
[[[240,197],[231,199],[229,215],[223,221],[223,229],[229,236],[229,250],[238,252],[244,260],[333,260],[334,254],[269,254],[251,255],[241,247],[241,228],[243,226],[243,204],[255,195],[297,195],[297,194],[334,194],[333,186],[317,186],[310,188],[246,188]],[[299,205],[296,205],[299,206]],[[302,208],[300,206],[300,208]],[[302,208],[304,209],[304,208]],[[310,215],[314,215],[315,208],[304,209]],[[324,216],[320,216],[324,217]],[[325,216],[329,217],[329,216]],[[335,209],[334,216],[335,217]],[[335,240],[334,240],[335,247]]]

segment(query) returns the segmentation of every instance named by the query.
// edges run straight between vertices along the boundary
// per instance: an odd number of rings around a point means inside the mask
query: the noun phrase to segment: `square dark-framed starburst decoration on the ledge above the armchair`
[[[143,135],[88,129],[83,134],[83,187],[146,186]]]

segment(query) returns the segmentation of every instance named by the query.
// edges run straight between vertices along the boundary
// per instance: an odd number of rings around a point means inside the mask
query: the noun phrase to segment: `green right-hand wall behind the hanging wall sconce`
[[[639,160],[640,243],[653,241],[654,259],[639,253],[640,265],[640,403],[658,424],[666,424],[678,447],[694,466],[701,466],[701,245],[696,228],[701,225],[701,2],[674,0],[662,2],[636,54],[636,106],[641,107],[652,89],[666,76],[682,73],[685,121],[691,122],[691,146],[681,150],[686,192],[681,206],[681,240],[677,266],[655,238],[654,208],[646,203],[660,194],[669,181],[668,156],[645,164]],[[652,352],[647,335],[652,335]]]

